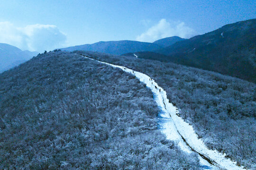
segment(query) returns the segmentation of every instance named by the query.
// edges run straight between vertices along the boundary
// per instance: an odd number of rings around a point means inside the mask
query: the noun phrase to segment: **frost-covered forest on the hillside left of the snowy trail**
[[[40,54],[0,74],[0,169],[200,169],[159,132],[158,113],[135,76],[69,52]]]

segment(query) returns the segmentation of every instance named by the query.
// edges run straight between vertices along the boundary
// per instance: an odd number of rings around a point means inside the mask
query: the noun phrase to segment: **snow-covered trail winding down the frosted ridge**
[[[87,59],[91,59],[86,56],[82,56]],[[92,59],[95,60],[95,59]],[[165,90],[159,87],[157,83],[149,76],[133,71],[132,69],[125,68],[95,60],[114,68],[121,68],[123,71],[128,72],[136,76],[141,82],[145,83],[148,88],[154,94],[154,100],[160,107],[162,112],[159,115],[159,126],[161,131],[166,135],[169,140],[176,141],[180,148],[187,153],[198,153],[202,169],[206,170],[244,170],[245,168],[236,165],[236,162],[225,158],[225,155],[219,153],[216,150],[210,150],[198,138],[197,134],[193,130],[193,127],[185,122],[181,117],[178,116],[178,109],[174,107],[172,103],[167,99]]]

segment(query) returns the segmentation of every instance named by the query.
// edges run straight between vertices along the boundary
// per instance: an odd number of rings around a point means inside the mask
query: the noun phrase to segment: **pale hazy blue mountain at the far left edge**
[[[36,55],[37,52],[22,51],[15,46],[0,43],[0,73],[18,66]]]

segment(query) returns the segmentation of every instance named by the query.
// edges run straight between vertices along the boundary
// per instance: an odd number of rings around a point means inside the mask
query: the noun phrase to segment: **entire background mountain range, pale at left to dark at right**
[[[155,59],[216,71],[256,82],[256,19],[222,26],[210,33],[183,39],[167,37],[153,43],[109,41],[62,48],[64,51],[98,51]],[[18,65],[35,52],[0,43],[0,72]]]

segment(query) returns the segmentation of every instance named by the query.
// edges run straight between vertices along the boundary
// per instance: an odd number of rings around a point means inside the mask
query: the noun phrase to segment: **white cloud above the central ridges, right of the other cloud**
[[[145,33],[137,36],[136,40],[141,42],[154,42],[161,38],[170,36],[179,36],[182,38],[190,38],[195,35],[195,31],[185,26],[184,22],[168,22],[161,19],[155,26],[150,27]]]

